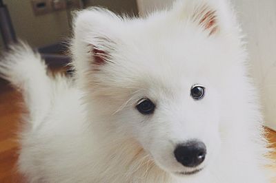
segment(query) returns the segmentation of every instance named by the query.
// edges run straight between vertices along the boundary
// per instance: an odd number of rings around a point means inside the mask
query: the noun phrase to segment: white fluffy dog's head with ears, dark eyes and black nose
[[[97,115],[161,169],[190,175],[219,154],[228,98],[242,100],[238,35],[222,1],[177,1],[145,19],[92,8],[77,14],[72,52]]]

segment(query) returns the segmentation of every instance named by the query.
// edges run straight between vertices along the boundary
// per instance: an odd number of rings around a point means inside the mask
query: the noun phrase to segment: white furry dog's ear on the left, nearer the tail
[[[121,18],[102,9],[91,8],[75,14],[71,52],[77,69],[99,70],[112,61],[119,44]]]

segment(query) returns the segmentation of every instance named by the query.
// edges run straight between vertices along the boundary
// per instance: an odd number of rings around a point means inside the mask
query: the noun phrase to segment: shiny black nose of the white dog
[[[179,144],[174,151],[177,162],[187,167],[195,167],[204,161],[206,146],[203,142],[196,140]]]

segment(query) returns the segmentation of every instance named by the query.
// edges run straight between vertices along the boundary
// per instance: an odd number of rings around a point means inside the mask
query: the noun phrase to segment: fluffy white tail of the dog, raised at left
[[[0,59],[0,77],[21,90],[30,122],[43,120],[50,109],[52,81],[41,56],[24,43],[12,46]]]

